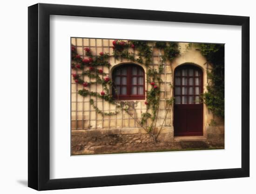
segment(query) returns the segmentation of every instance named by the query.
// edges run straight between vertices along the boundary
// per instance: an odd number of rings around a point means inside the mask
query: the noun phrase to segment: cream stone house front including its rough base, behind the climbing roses
[[[84,48],[86,47],[90,48],[94,56],[99,55],[101,52],[109,53],[111,55],[113,53],[113,41],[114,40],[108,39],[71,38],[71,44],[76,47],[77,53],[81,55],[82,58],[86,57],[84,51]],[[198,51],[195,47],[188,48],[188,44],[189,43],[179,43],[181,54],[177,56],[172,62],[166,61],[164,64],[163,73],[161,74],[161,79],[163,82],[159,84],[161,99],[156,122],[156,130],[159,130],[162,125],[163,127],[159,135],[159,141],[166,142],[168,145],[173,145],[178,141],[201,140],[212,145],[224,146],[224,123],[222,120],[215,118],[205,104],[202,104],[202,134],[200,135],[175,135],[175,105],[168,111],[165,119],[167,112],[166,99],[175,95],[174,73],[176,69],[182,66],[188,66],[201,70],[201,93],[204,93],[207,90],[206,86],[209,82],[209,79],[207,78],[207,71],[210,70],[210,65],[207,63],[206,59],[202,56],[200,51]],[[155,48],[155,42],[149,42],[148,45],[152,48],[153,51],[152,63],[149,64],[149,66],[158,69],[163,51],[161,49]],[[135,58],[137,57],[137,53],[134,51],[134,49],[129,48],[129,52],[134,53]],[[108,76],[110,79],[112,79],[113,71],[115,68],[121,67],[124,64],[134,64],[141,67],[144,72],[147,72],[149,68],[144,64],[132,62],[126,59],[120,58],[117,60],[113,56],[110,56],[108,61],[111,64],[110,67],[97,67],[102,69],[103,72],[107,74],[104,76],[101,75],[102,78]],[[72,61],[72,63],[75,63],[75,61]],[[72,69],[71,73],[81,74],[82,71],[86,70],[86,68],[84,70]],[[95,81],[94,79],[86,80],[88,77],[84,77],[84,79],[85,81]],[[148,90],[151,86],[149,83],[147,84],[147,74],[145,74],[144,79],[145,90]],[[95,147],[93,146],[98,147],[98,153],[101,153],[106,150],[106,147],[140,147],[140,145],[152,141],[147,132],[143,130],[143,128],[141,128],[136,121],[136,119],[139,120],[141,118],[141,114],[146,111],[147,105],[145,104],[145,99],[126,100],[130,101],[132,106],[134,106],[134,112],[132,114],[136,115],[136,118],[132,118],[125,111],[121,111],[116,115],[102,116],[102,114],[97,114],[95,109],[90,105],[90,99],[93,99],[96,103],[96,106],[106,113],[116,111],[116,106],[98,97],[83,97],[78,94],[78,91],[81,89],[83,89],[83,86],[75,83],[74,79],[71,78],[71,134],[73,154],[95,153]],[[109,89],[111,91],[111,88]],[[99,84],[94,84],[89,86],[89,90],[101,93],[103,88]],[[217,121],[217,125],[215,126],[212,126],[213,119]],[[129,150],[129,148],[127,149]]]

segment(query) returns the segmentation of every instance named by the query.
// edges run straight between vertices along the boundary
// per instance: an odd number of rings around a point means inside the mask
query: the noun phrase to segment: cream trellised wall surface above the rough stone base
[[[100,52],[106,52],[112,54],[112,41],[113,40],[104,40],[104,39],[87,39],[87,38],[72,38],[71,43],[77,47],[77,52],[82,57],[85,57],[85,51],[83,48],[89,47],[92,51],[93,55],[99,55]],[[152,64],[151,67],[158,68],[161,59],[161,53],[157,48],[154,48],[155,42],[150,42],[149,46],[153,49],[152,55]],[[181,66],[183,64],[194,64],[197,67],[200,67],[203,72],[203,92],[206,91],[207,86],[207,69],[209,64],[206,63],[206,59],[202,56],[200,51],[196,50],[195,47],[187,48],[188,43],[179,43],[181,49],[181,56],[175,58],[175,60],[170,63],[169,61],[165,64],[164,73],[161,75],[164,83],[160,84],[161,91],[161,101],[160,101],[160,110],[158,114],[157,126],[162,125],[164,120],[164,116],[166,114],[166,103],[165,100],[173,96],[173,89],[170,86],[173,85],[173,72],[176,67]],[[130,49],[129,52],[133,53],[133,49]],[[135,53],[136,56],[136,53]],[[74,61],[72,61],[74,62]],[[114,57],[109,58],[109,62],[111,67],[103,67],[104,73],[107,73],[111,78],[111,72],[113,69],[121,64],[128,63],[130,61],[125,59],[115,60]],[[147,67],[143,64],[135,63],[144,68],[145,72],[147,72]],[[86,67],[87,68],[87,67]],[[98,69],[102,69],[102,67],[97,67]],[[85,69],[86,70],[86,69]],[[72,69],[71,73],[81,74],[82,70],[74,70]],[[106,77],[106,76],[103,76]],[[145,79],[147,79],[145,75]],[[93,79],[89,80],[88,77],[84,77],[85,81],[94,81]],[[146,81],[145,81],[146,83]],[[156,83],[158,85],[158,83]],[[149,85],[146,84],[146,90]],[[82,97],[77,94],[78,90],[83,89],[83,87],[79,84],[76,84],[73,79],[71,79],[71,120],[72,120],[72,130],[76,129],[111,129],[111,128],[134,128],[139,127],[136,123],[136,120],[131,118],[124,111],[112,116],[102,116],[101,114],[96,114],[93,107],[89,105],[90,98],[93,98],[97,103],[97,107],[104,112],[115,111],[116,108],[114,105],[110,105],[108,102],[104,102],[101,99],[97,99],[97,97]],[[101,85],[91,85],[89,90],[100,93],[103,88]],[[137,116],[137,119],[140,120],[141,113],[146,111],[146,105],[144,104],[145,100],[130,100],[135,104],[134,115]],[[206,126],[209,125],[210,120],[213,118],[213,115],[208,110],[208,108],[204,105],[203,108],[203,125],[204,125],[204,134],[206,134]],[[148,123],[149,124],[149,123]],[[167,115],[167,119],[164,123],[165,127],[173,126],[173,111],[170,111]]]

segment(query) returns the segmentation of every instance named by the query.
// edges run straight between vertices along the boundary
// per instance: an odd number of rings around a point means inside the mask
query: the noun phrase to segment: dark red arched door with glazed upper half
[[[174,135],[203,135],[202,70],[183,65],[174,75]]]

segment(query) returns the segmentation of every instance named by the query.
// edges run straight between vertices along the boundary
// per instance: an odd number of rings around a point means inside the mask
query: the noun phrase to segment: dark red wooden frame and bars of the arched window
[[[117,69],[122,68],[122,67],[127,67],[127,89],[126,89],[126,95],[120,94],[120,95],[115,95],[115,71],[117,71]],[[132,75],[132,67],[137,67],[140,68],[142,70],[142,75],[138,75],[138,72],[136,75]],[[132,84],[132,77],[133,76],[142,76],[143,77],[143,94],[131,94],[131,89],[132,86],[142,86],[142,85],[133,85]],[[122,75],[120,75],[120,77],[122,77]],[[116,100],[145,100],[145,71],[143,69],[143,67],[141,67],[140,65],[134,64],[134,63],[128,63],[128,64],[122,64],[119,65],[117,67],[115,67],[115,69],[112,71],[112,80],[113,80],[113,86],[112,86],[112,95]],[[121,80],[121,78],[120,78]],[[137,79],[138,80],[138,79]],[[137,82],[138,83],[138,82]],[[117,85],[117,86],[121,86],[121,85]]]

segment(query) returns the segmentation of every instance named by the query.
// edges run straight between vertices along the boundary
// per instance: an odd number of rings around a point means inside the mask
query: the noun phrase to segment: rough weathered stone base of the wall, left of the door
[[[169,146],[174,142],[173,134],[173,127],[163,127],[157,141]],[[71,135],[72,155],[129,152],[154,144],[143,128],[72,130]]]

